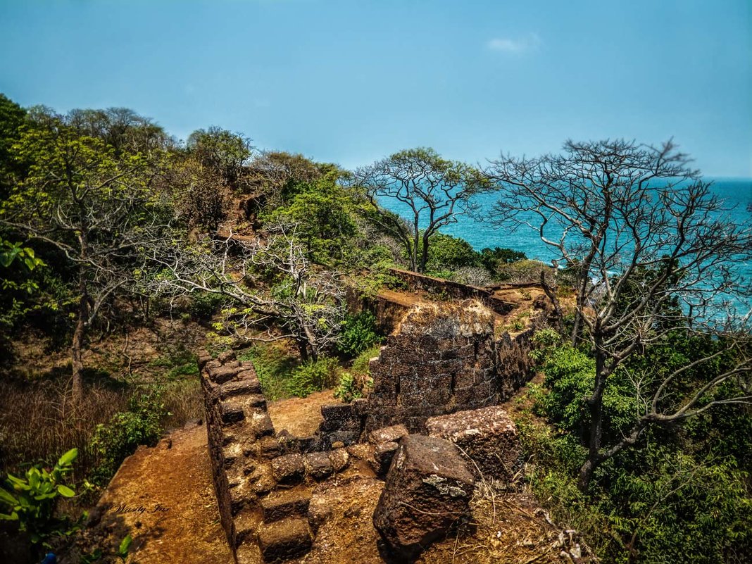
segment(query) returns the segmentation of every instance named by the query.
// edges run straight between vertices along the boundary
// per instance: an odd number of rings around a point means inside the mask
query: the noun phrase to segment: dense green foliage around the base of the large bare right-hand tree
[[[556,516],[585,532],[608,562],[744,562],[752,550],[750,409],[729,405],[723,413],[708,412],[684,426],[649,429],[638,448],[608,459],[584,494],[576,483],[587,455],[590,414],[584,402],[595,362],[550,330],[539,332],[536,340],[541,348],[535,357],[545,379],[533,391],[533,410],[555,432],[532,420],[521,428],[535,460],[532,486],[541,499],[549,499]],[[677,332],[670,344],[646,350],[611,374],[604,396],[605,440],[623,436],[639,417],[641,394],[649,392],[641,388],[651,384],[641,378],[646,365],[666,362],[666,370],[671,362],[687,365],[707,347],[720,344]],[[723,362],[715,369],[723,370]],[[686,378],[691,387],[691,381],[707,375]]]

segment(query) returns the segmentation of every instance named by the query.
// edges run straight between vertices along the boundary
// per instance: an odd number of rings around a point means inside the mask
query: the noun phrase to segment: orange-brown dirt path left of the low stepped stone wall
[[[113,541],[132,536],[129,564],[233,562],[214,497],[205,426],[139,448],[123,462],[96,511],[99,529]]]

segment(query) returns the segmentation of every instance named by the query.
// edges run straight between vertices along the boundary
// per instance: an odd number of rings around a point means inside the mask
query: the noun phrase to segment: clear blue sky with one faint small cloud
[[[219,125],[346,167],[408,147],[484,162],[567,138],[673,136],[752,176],[752,3],[12,2],[0,92]]]

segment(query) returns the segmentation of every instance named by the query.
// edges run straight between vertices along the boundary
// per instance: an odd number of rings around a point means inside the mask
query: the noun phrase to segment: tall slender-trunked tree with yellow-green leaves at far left
[[[167,218],[152,188],[162,154],[117,153],[82,133],[77,114],[46,108],[32,111],[14,153],[31,164],[0,205],[0,225],[53,247],[74,272],[71,364],[80,399],[89,329],[116,296],[136,291],[139,249],[161,237]]]

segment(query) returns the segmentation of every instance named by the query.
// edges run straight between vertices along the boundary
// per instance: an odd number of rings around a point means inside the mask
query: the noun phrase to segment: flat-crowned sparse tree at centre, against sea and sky
[[[431,236],[472,208],[471,197],[487,186],[477,169],[442,159],[432,149],[410,149],[359,168],[350,180],[373,205],[371,220],[396,237],[413,271],[423,272]],[[405,220],[379,204],[394,199],[408,209]]]

